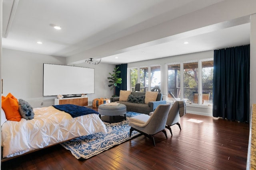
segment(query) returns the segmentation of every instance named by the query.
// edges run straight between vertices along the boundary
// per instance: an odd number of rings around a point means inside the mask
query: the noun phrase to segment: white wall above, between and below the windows
[[[150,65],[161,65],[161,93],[168,94],[167,91],[167,64],[170,63],[180,63],[180,62],[188,62],[188,61],[198,61],[202,59],[213,59],[214,51],[203,51],[200,53],[191,53],[185,55],[178,55],[173,57],[164,57],[161,59],[154,59],[148,61],[141,61],[136,63],[128,63],[128,68],[132,67],[140,67],[140,66],[150,66]],[[199,106],[196,104],[187,104],[187,112],[198,114],[198,115],[206,115],[212,116],[212,106]]]

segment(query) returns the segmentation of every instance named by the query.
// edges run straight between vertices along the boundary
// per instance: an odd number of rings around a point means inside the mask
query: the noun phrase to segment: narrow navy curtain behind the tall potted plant
[[[116,96],[120,95],[120,90],[127,90],[127,64],[116,65],[116,68],[121,71],[119,77],[122,78],[122,83],[118,84],[119,88],[116,87]]]

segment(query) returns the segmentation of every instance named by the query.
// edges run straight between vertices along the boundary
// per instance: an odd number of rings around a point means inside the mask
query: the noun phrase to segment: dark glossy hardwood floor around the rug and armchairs
[[[202,122],[200,122],[202,121]],[[2,162],[2,170],[245,170],[249,125],[186,114],[155,135],[156,147],[136,137],[88,160],[77,160],[60,145]]]

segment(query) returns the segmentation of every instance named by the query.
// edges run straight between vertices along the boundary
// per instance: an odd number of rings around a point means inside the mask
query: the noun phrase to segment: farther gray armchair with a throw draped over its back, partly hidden
[[[172,107],[170,108],[169,114],[168,114],[168,118],[166,121],[166,128],[170,130],[170,133],[172,135],[172,129],[171,126],[172,125],[178,125],[180,130],[180,102],[182,101],[175,101],[174,104],[172,105]],[[185,102],[185,101],[183,101]]]

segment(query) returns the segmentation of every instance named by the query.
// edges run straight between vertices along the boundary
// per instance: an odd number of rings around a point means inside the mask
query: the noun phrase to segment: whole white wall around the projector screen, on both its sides
[[[2,95],[10,92],[16,98],[26,100],[32,107],[54,105],[56,96],[43,96],[43,63],[66,64],[66,58],[2,49]],[[114,65],[82,63],[76,66],[95,68],[95,94],[88,95],[89,104],[94,98],[110,98],[113,95],[108,88],[107,76]],[[42,106],[41,102],[44,103]]]

